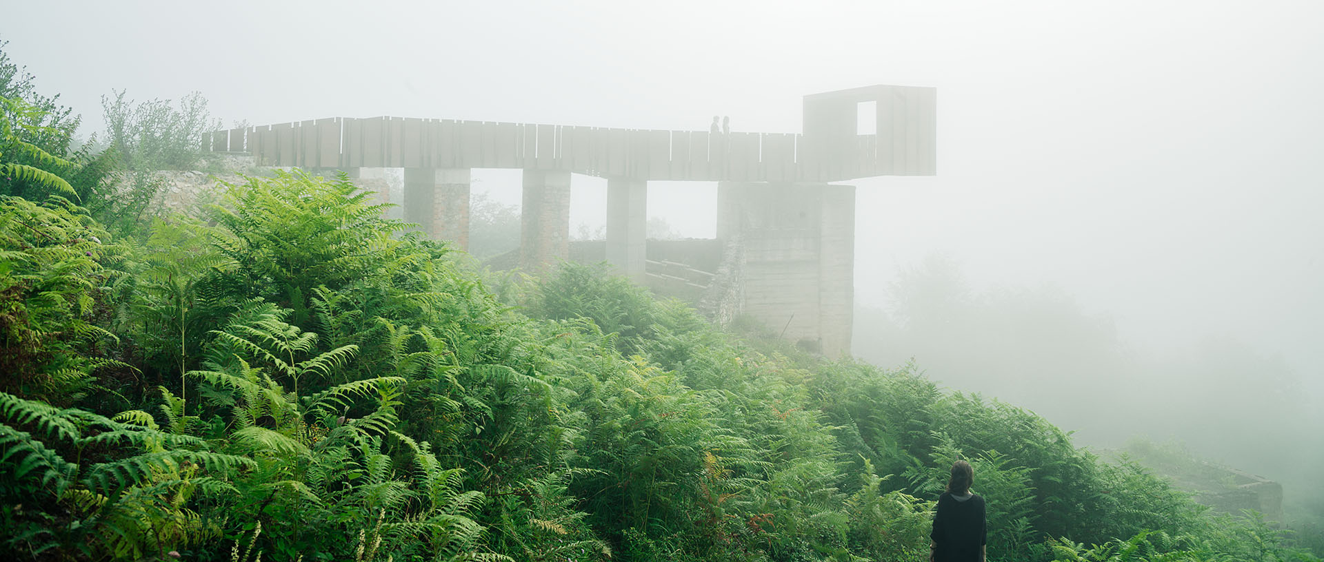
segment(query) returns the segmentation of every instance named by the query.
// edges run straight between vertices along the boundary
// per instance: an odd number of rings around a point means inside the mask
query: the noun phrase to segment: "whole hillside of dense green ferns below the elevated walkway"
[[[922,561],[965,458],[993,559],[1315,559],[912,366],[741,340],[601,267],[486,284],[368,201],[279,175],[115,239],[4,197],[4,547]]]

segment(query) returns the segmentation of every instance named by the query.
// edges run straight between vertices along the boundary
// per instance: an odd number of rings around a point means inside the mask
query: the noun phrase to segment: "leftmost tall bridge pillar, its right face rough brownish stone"
[[[434,241],[469,247],[469,168],[405,168],[404,220]]]

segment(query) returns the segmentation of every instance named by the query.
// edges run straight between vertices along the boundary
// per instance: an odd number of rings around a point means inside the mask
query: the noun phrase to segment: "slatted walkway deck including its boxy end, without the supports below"
[[[204,144],[211,151],[250,152],[261,165],[301,168],[522,168],[679,181],[821,182],[933,175],[932,89],[886,89],[871,99],[876,132],[870,135],[854,131],[854,104],[824,104],[810,95],[805,98],[805,134],[379,116],[216,131]],[[833,115],[841,108],[850,111],[849,119]],[[822,119],[813,119],[816,110]]]

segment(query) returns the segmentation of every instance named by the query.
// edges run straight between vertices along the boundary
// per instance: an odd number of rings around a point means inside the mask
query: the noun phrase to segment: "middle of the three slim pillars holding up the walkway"
[[[519,264],[543,270],[571,253],[571,173],[526,169],[520,209]]]

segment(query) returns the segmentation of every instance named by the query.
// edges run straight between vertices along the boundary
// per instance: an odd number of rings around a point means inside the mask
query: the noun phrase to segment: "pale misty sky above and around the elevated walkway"
[[[1234,337],[1324,391],[1321,1],[368,5],[13,3],[0,40],[85,134],[111,89],[201,91],[226,126],[798,132],[805,94],[935,86],[939,175],[855,182],[858,304],[941,253],[977,287],[1059,287],[1140,346]],[[475,176],[518,200],[518,176]],[[592,222],[605,182],[573,185]],[[712,235],[712,184],[650,188],[650,214]]]

